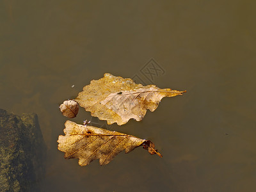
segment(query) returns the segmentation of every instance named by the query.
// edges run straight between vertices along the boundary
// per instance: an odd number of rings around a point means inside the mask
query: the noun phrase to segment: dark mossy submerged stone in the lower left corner
[[[0,109],[0,191],[40,191],[46,149],[35,113]]]

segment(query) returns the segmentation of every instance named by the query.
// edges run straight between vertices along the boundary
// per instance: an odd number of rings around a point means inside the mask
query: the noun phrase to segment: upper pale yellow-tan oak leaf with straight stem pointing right
[[[154,111],[163,97],[174,97],[184,92],[160,89],[152,84],[143,86],[132,79],[104,74],[103,78],[84,86],[83,92],[74,100],[92,116],[107,120],[108,124],[124,125],[130,118],[142,120],[147,109]]]

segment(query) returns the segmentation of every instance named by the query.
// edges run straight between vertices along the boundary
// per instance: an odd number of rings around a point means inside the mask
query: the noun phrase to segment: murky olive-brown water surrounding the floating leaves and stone
[[[0,108],[38,114],[49,147],[42,191],[255,190],[255,1],[0,4]],[[80,167],[57,150],[59,104],[105,72],[188,90],[109,128],[154,141],[163,158],[136,148]],[[74,121],[85,119],[81,108]]]

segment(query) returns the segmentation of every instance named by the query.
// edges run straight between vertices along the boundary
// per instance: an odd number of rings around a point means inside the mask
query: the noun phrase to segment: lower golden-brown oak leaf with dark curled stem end
[[[140,145],[150,154],[162,157],[154,148],[152,141],[141,140],[120,132],[79,125],[67,120],[64,133],[65,136],[59,136],[58,149],[65,152],[66,159],[78,158],[81,166],[89,164],[94,159],[99,159],[100,165],[108,164],[122,150],[129,153]]]

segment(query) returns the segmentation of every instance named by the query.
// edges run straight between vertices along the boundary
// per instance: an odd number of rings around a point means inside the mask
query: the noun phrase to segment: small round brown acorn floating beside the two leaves
[[[68,118],[76,117],[79,110],[79,105],[74,100],[65,100],[63,104],[60,105],[60,111],[62,115]]]

